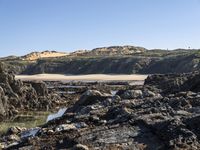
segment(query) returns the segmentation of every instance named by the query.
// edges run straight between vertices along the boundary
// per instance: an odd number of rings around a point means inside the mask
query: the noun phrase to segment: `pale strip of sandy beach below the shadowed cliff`
[[[16,75],[21,80],[43,80],[43,81],[143,81],[147,75],[61,75],[61,74],[37,74],[37,75]]]

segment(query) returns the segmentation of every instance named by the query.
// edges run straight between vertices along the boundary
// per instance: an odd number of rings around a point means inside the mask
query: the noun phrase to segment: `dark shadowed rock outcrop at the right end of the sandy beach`
[[[200,91],[200,73],[198,71],[183,74],[155,74],[145,80],[145,85],[162,90],[163,93],[180,91]]]

